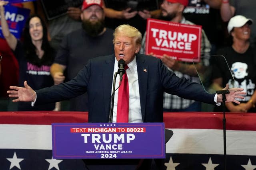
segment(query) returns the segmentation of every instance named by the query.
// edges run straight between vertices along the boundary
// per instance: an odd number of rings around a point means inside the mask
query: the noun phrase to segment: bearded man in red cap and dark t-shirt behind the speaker
[[[105,14],[102,0],[84,0],[82,5],[82,29],[66,35],[51,66],[51,75],[55,84],[71,80],[83,68],[89,59],[114,53],[114,31],[104,26]],[[106,43],[108,42],[108,43]],[[88,111],[87,94],[70,100],[70,111]]]

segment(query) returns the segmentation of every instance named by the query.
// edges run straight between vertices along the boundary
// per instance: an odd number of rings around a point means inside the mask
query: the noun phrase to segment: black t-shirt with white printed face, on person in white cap
[[[235,87],[243,88],[246,92],[245,98],[240,102],[248,102],[256,89],[256,50],[249,47],[245,53],[240,54],[234,51],[232,47],[225,47],[218,50],[217,54],[226,58],[234,77]],[[227,71],[226,67],[224,62],[218,63],[218,65],[213,64],[213,79],[223,78],[222,87],[225,87],[226,83],[231,84],[230,81],[232,80],[230,71]],[[252,108],[248,112],[256,112],[256,109]]]

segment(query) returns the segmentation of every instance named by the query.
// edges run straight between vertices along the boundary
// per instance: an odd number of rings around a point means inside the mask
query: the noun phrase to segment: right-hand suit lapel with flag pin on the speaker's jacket
[[[140,90],[140,107],[142,120],[144,121],[146,112],[146,97],[148,89],[148,64],[146,64],[144,55],[136,55],[136,63],[138,69],[138,82]]]

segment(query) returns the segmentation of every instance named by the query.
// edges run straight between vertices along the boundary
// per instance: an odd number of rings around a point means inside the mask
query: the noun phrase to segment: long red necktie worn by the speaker
[[[128,66],[125,66],[125,70]],[[128,123],[129,117],[129,84],[126,72],[123,75],[123,79],[118,90],[116,122]]]

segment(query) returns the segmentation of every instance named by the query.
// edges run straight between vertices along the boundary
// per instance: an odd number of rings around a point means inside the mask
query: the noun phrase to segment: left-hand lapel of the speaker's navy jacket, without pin
[[[112,89],[112,80],[113,80],[113,71],[114,71],[114,55],[110,55],[106,58],[102,65],[102,79],[103,79],[103,96],[105,104],[105,113],[106,116],[109,116],[110,111],[110,96]]]

